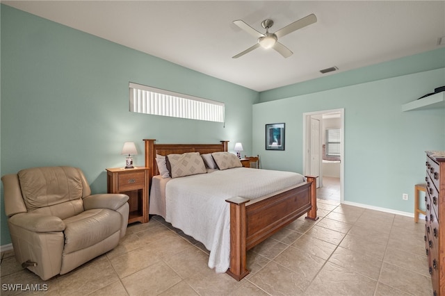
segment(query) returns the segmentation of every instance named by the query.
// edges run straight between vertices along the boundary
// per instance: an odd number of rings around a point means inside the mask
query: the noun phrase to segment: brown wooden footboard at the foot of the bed
[[[316,177],[273,196],[254,199],[227,199],[230,204],[230,268],[227,273],[240,281],[249,274],[246,252],[287,224],[307,213],[316,216]]]

